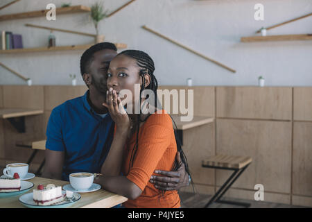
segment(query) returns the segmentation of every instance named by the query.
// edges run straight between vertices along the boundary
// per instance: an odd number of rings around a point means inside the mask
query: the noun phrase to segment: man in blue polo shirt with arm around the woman
[[[69,180],[74,172],[99,173],[110,151],[114,122],[107,108],[106,74],[110,61],[117,55],[110,42],[95,44],[80,59],[80,72],[89,88],[84,96],[58,105],[51,112],[46,128],[46,163],[43,177]],[[180,161],[180,155],[177,155]],[[150,182],[162,190],[189,185],[184,164],[178,171],[155,171]]]

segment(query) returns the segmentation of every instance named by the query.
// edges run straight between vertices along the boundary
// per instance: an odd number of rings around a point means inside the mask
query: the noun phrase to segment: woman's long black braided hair
[[[157,103],[158,82],[157,82],[156,77],[154,76],[155,66],[154,66],[154,62],[153,62],[152,58],[150,58],[150,56],[148,56],[147,53],[144,53],[144,51],[138,51],[138,50],[122,51],[121,53],[119,53],[119,55],[128,56],[130,58],[134,58],[135,60],[137,60],[137,65],[141,68],[139,70],[139,76],[140,76],[142,83],[143,83],[141,85],[141,89],[140,89],[140,96],[141,96],[141,93],[144,91],[144,89],[151,89],[155,95],[155,103],[154,104],[158,104]],[[145,86],[146,85],[146,81],[144,78],[145,75],[150,76],[150,84],[147,86]],[[139,107],[141,108],[141,99],[139,99]],[[155,112],[156,111],[157,110],[155,107]],[[148,117],[150,117],[150,113],[147,115],[147,117],[145,119],[141,119],[141,109],[140,109],[139,114],[137,115],[137,122],[136,122],[137,123],[137,126],[136,126],[137,138],[136,138],[135,146],[134,146],[132,153],[131,153],[128,173],[130,171],[130,168],[133,167],[133,162],[135,161],[135,155],[137,154],[137,148],[138,148],[138,143],[139,143],[139,125],[141,122],[145,122],[148,119]],[[172,117],[171,117],[171,119],[172,119]],[[172,119],[172,121],[173,121],[173,119]],[[173,121],[173,123],[175,124],[174,121]],[[177,151],[180,152],[182,163],[184,163],[185,170],[187,171],[187,173],[190,176],[189,165],[187,164],[187,157],[184,155],[184,152],[182,151],[181,142],[177,137],[176,125],[174,128],[174,131],[175,131],[175,141],[177,143]],[[177,171],[177,169],[179,167],[180,167],[179,163],[177,163],[175,161],[175,163],[173,165],[173,171]]]

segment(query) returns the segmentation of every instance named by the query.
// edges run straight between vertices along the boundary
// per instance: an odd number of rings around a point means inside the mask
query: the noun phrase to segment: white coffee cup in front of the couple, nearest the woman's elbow
[[[74,189],[89,189],[94,180],[93,173],[71,173],[69,174],[69,182]]]

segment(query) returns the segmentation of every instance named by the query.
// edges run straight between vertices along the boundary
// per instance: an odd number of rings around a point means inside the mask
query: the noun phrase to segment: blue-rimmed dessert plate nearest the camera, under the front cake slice
[[[63,195],[66,194],[66,191],[62,190],[62,194]],[[71,200],[63,200],[62,202],[55,203],[49,206],[39,206],[33,201],[33,192],[31,192],[20,196],[19,202],[21,202],[22,205],[29,208],[64,208],[73,205],[78,200],[80,200],[80,198],[81,198],[80,194],[73,193],[73,198],[71,198]]]

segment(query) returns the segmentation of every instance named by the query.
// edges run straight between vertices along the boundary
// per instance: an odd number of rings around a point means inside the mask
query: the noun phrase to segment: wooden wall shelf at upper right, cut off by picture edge
[[[294,40],[312,40],[312,34],[241,37],[241,42],[268,42],[268,41],[294,41]]]

